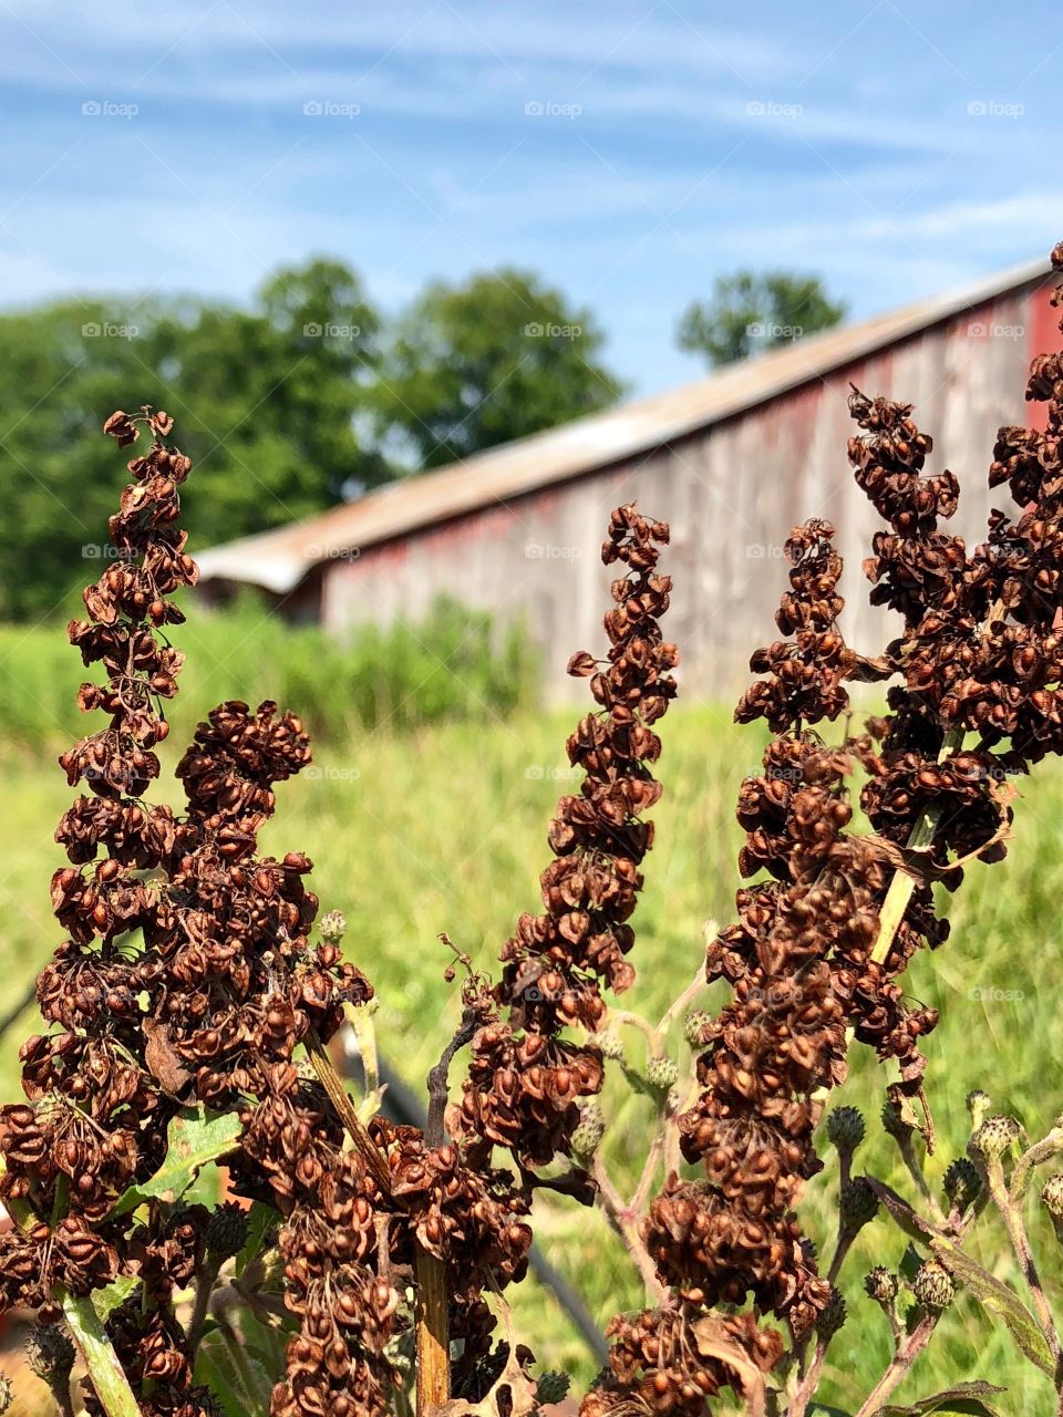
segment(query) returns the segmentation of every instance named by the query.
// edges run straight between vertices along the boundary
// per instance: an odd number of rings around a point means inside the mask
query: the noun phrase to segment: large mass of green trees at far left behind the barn
[[[378,317],[333,261],[272,276],[249,310],[198,300],[62,302],[0,317],[0,618],[69,609],[113,502],[99,427],[164,408],[196,459],[204,547],[310,516],[390,475],[357,415]]]

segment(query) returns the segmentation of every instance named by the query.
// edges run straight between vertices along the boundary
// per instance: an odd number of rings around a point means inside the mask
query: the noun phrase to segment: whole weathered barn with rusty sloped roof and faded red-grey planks
[[[672,524],[669,633],[694,693],[730,693],[774,635],[789,527],[826,516],[848,555],[846,638],[876,649],[860,560],[877,530],[845,448],[856,384],[916,405],[931,470],[961,480],[958,530],[979,540],[1001,424],[1036,415],[1029,359],[1060,347],[1045,262],[838,329],[665,395],[583,418],[411,478],[332,512],[200,557],[218,589],[249,582],[285,614],[342,636],[363,621],[412,622],[439,595],[520,614],[550,646],[547,693],[571,649],[601,643],[609,509],[635,499]],[[995,495],[1001,500],[1002,493]]]

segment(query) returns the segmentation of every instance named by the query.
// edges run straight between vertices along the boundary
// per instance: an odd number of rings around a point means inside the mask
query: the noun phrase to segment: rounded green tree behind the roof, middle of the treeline
[[[598,360],[602,343],[587,309],[529,272],[435,282],[381,357],[377,428],[438,468],[608,408],[622,384]]]

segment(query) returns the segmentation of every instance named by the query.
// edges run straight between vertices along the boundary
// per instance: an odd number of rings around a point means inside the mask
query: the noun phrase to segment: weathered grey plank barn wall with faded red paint
[[[564,676],[568,655],[602,645],[605,521],[634,499],[672,524],[668,633],[692,696],[731,697],[750,650],[774,636],[782,541],[809,516],[838,529],[846,638],[876,652],[887,612],[867,605],[860,561],[880,523],[845,456],[849,384],[916,404],[935,439],[930,470],[955,470],[955,530],[974,543],[989,507],[996,429],[1026,418],[1029,346],[1052,329],[1045,306],[1040,290],[1009,293],[673,446],[337,560],[323,577],[323,621],[340,635],[361,621],[417,621],[441,594],[523,615],[547,650],[547,697],[571,697],[581,690]]]

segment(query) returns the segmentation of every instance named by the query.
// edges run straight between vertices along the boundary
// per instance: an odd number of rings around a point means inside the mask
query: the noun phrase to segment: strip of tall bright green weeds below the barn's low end
[[[252,594],[227,611],[191,605],[170,635],[189,656],[173,743],[187,741],[225,699],[298,707],[319,743],[342,743],[356,728],[505,717],[534,699],[537,656],[520,625],[503,628],[445,599],[417,623],[366,625],[346,643],[289,625]],[[75,697],[85,677],[57,626],[0,625],[0,735],[28,748],[79,737]]]

